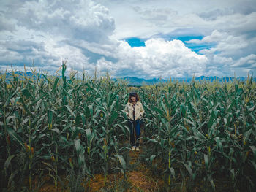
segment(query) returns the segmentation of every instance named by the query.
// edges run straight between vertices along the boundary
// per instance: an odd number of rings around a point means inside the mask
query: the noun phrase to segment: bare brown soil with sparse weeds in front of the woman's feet
[[[89,184],[83,187],[85,191],[96,192],[96,191],[159,191],[160,186],[163,185],[163,180],[155,178],[154,175],[147,169],[146,164],[140,162],[140,153],[143,153],[142,147],[140,152],[129,151],[129,164],[132,169],[124,175],[119,173],[108,174],[105,182],[104,174],[94,174],[94,178],[90,180]],[[66,183],[65,183],[66,184]],[[61,186],[61,185],[59,185]],[[45,183],[40,188],[39,192],[46,191],[70,191],[67,188],[55,189],[53,183]]]

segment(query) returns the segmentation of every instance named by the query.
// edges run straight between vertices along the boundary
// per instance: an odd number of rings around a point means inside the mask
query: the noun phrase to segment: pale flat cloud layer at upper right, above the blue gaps
[[[214,29],[236,33],[255,28],[254,0],[214,0],[207,4],[204,0],[97,1],[115,18],[114,37],[118,39],[150,38],[177,29],[189,32],[193,28],[197,34],[208,35]]]

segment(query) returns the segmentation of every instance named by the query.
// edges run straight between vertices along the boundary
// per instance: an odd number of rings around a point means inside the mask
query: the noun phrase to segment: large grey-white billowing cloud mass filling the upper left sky
[[[1,65],[31,66],[35,61],[49,71],[67,58],[70,67],[83,69],[89,58],[80,42],[99,47],[110,42],[115,28],[108,9],[93,1],[9,1],[0,17]]]

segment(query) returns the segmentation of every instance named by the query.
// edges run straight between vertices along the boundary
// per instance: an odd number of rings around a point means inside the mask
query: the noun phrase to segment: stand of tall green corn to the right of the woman
[[[179,179],[183,188],[202,178],[214,190],[214,180],[225,175],[234,189],[239,186],[253,191],[253,88],[250,77],[247,82],[234,80],[222,85],[169,82],[141,90],[146,108],[145,135],[151,149],[146,160],[155,158],[158,165],[165,165],[168,185]]]

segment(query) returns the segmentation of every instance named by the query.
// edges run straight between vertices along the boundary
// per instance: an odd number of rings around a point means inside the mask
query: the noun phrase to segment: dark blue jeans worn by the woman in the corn
[[[129,126],[129,142],[132,146],[138,147],[140,145],[140,120],[128,120]],[[135,142],[135,134],[136,134],[136,142]]]

